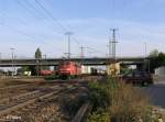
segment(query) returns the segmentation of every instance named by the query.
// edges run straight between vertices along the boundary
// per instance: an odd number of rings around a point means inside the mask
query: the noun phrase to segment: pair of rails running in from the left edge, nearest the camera
[[[35,108],[36,104],[40,104],[42,101],[48,100],[52,97],[57,97],[61,92],[66,91],[66,89],[70,89],[69,86],[53,86],[50,87],[48,90],[35,90],[32,92],[23,93],[20,96],[13,97],[12,100],[3,99],[0,100],[0,119],[6,119],[8,114],[11,112],[20,113],[23,108]]]

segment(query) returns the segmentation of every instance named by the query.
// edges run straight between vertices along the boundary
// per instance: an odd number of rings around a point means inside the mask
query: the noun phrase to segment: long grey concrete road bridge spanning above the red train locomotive
[[[81,63],[82,65],[107,65],[113,63],[113,58],[106,57],[85,57],[85,58],[16,58],[16,59],[0,59],[0,67],[11,67],[11,66],[57,66],[61,62],[73,60]],[[145,57],[117,57],[116,62],[127,65],[142,65],[146,60]]]

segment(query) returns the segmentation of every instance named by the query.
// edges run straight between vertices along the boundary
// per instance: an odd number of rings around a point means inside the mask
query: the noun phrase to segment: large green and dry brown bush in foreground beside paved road
[[[150,122],[148,100],[138,88],[107,78],[105,82],[90,82],[89,89],[94,110],[88,122],[99,122],[95,119],[107,119],[107,115],[110,122],[139,122],[140,119]],[[102,112],[98,112],[100,109]]]

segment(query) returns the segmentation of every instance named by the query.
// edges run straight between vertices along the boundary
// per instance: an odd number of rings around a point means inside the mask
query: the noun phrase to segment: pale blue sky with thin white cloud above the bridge
[[[50,14],[38,4],[40,2]],[[0,53],[10,58],[33,57],[41,48],[47,57],[105,57],[110,29],[117,31],[117,56],[144,56],[165,52],[165,0],[0,0]],[[88,48],[87,48],[88,47]]]

